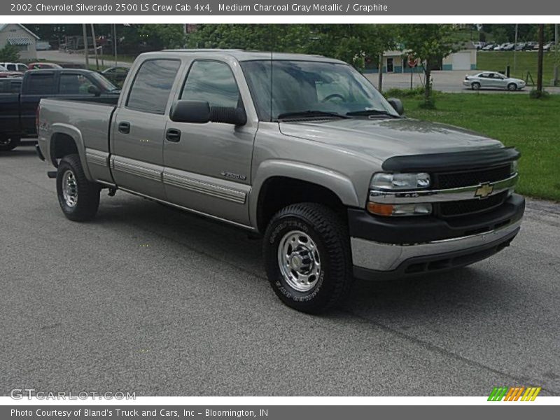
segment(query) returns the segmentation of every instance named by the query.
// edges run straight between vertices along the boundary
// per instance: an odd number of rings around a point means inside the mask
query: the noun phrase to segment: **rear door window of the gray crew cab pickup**
[[[149,113],[165,113],[167,99],[181,62],[175,59],[151,59],[142,63],[134,76],[127,108]]]

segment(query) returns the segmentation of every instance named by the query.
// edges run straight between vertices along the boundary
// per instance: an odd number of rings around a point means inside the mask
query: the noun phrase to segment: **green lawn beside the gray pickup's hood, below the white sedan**
[[[465,127],[521,151],[517,192],[560,202],[560,95],[437,93],[435,110],[402,98],[406,115]]]

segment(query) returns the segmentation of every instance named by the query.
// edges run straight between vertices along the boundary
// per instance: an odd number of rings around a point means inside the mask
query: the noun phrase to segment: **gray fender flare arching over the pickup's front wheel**
[[[251,225],[255,228],[257,226],[258,195],[265,181],[274,176],[315,183],[335,193],[342,204],[349,207],[360,206],[352,181],[339,172],[303,162],[276,159],[265,160],[255,171],[253,187],[249,196],[249,219]]]

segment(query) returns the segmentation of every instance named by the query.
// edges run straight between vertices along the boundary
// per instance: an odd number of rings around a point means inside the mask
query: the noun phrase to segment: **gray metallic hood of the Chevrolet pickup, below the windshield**
[[[393,156],[503,147],[500,141],[469,130],[409,118],[352,118],[279,125],[286,136],[330,144],[381,161]]]

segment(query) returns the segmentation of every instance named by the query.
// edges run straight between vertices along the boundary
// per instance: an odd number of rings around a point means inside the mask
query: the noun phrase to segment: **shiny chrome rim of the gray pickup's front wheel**
[[[321,256],[307,233],[292,230],[280,240],[278,266],[288,286],[299,292],[314,288],[321,276]]]

